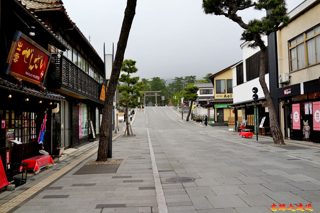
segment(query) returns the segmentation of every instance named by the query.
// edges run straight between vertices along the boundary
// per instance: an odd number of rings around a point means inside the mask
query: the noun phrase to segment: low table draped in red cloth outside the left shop
[[[33,169],[36,174],[38,174],[42,168],[47,167],[47,169],[49,169],[50,164],[54,165],[50,155],[38,155],[25,159],[22,163],[28,163],[28,169]],[[20,167],[20,171],[22,171],[22,166]]]

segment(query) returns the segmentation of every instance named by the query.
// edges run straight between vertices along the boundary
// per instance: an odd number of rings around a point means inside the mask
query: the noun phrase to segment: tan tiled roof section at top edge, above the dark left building
[[[61,0],[20,0],[27,9],[44,10],[63,7]]]

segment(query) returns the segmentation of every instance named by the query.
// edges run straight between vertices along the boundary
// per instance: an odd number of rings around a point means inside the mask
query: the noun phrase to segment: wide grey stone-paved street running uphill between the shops
[[[320,212],[317,148],[268,146],[268,137],[181,121],[170,107],[137,111],[132,130],[135,136],[118,133],[113,141],[112,157],[124,159],[116,173],[76,174],[96,159],[95,143],[35,175],[2,199],[0,211],[263,213],[301,203]]]

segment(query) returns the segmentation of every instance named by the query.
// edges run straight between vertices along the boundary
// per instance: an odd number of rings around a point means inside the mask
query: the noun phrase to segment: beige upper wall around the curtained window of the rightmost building
[[[319,11],[320,2],[291,20],[288,27],[282,27],[277,31],[279,74],[290,72],[288,41],[318,25]],[[291,85],[317,79],[320,75],[320,64],[290,72],[290,75]]]

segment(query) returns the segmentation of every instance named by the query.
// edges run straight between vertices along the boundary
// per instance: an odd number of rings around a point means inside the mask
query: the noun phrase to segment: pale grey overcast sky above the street
[[[288,0],[288,11],[302,0]],[[63,0],[70,19],[103,59],[116,45],[126,7],[125,0]],[[201,79],[242,59],[243,31],[224,16],[206,15],[202,0],[138,0],[124,59],[137,61],[141,78],[196,75]],[[247,22],[265,12],[239,14]],[[170,81],[170,80],[169,80]]]

